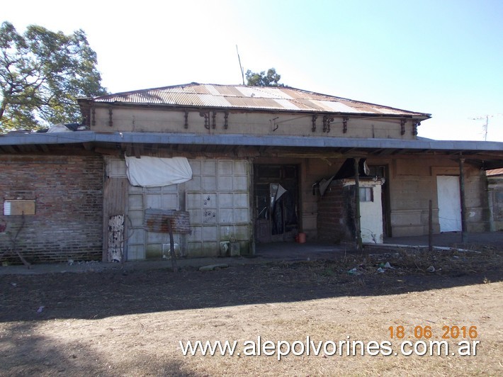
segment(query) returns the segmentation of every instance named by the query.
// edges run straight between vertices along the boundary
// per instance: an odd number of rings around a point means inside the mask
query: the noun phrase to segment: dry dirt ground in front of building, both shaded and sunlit
[[[392,249],[215,271],[2,275],[1,374],[501,376],[502,261],[503,249],[497,247]],[[259,337],[262,347],[266,341],[298,341],[298,355],[278,360],[277,353],[264,354],[268,349],[260,356],[246,349]],[[197,340],[237,341],[237,351],[183,356],[179,342]],[[411,342],[408,352],[414,342],[431,340],[446,340],[448,355],[401,352],[402,342]],[[355,355],[348,356],[347,348],[332,355],[330,341],[336,347],[339,341],[361,341],[364,347],[388,341],[390,355],[366,349],[361,356],[361,348]],[[480,342],[476,354],[458,354],[461,341],[470,347]],[[326,348],[307,355],[300,342],[322,342]],[[286,351],[286,344],[281,347]],[[418,347],[420,353],[423,346]]]

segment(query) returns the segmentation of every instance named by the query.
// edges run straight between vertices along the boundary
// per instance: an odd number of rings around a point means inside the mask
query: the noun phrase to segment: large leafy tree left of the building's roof
[[[78,97],[106,94],[83,30],[0,26],[0,132],[79,122]]]

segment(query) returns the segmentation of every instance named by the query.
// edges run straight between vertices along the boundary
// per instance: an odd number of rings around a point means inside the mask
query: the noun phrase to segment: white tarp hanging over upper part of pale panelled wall
[[[156,187],[182,184],[192,179],[191,165],[185,157],[171,159],[142,156],[125,157],[132,186]]]

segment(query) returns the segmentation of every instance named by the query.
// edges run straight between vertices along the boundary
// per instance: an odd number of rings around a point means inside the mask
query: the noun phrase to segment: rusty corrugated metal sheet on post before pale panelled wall
[[[191,223],[188,212],[184,210],[161,210],[147,208],[145,210],[145,224],[149,232],[169,233],[188,235],[191,232]]]

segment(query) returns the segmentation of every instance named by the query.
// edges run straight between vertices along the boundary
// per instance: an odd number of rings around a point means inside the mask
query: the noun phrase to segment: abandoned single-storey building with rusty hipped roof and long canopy
[[[0,135],[1,252],[16,247],[35,262],[167,258],[156,221],[176,213],[188,216],[173,230],[181,257],[426,235],[430,202],[435,233],[494,223],[485,171],[503,167],[503,143],[422,139],[427,113],[196,83],[79,106],[79,128]]]

